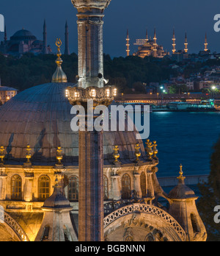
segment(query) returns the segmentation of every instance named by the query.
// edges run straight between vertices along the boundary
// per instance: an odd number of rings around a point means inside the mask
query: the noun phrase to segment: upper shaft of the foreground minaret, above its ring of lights
[[[103,11],[111,0],[72,0],[78,10],[78,86],[103,87]]]

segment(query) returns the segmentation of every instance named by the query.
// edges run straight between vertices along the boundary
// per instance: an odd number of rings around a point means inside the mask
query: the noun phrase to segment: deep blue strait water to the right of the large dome
[[[209,174],[213,144],[220,135],[220,112],[150,113],[150,141],[158,144],[158,177]]]

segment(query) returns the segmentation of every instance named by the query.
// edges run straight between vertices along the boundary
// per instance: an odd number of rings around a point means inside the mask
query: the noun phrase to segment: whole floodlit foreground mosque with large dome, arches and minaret
[[[1,241],[206,241],[183,166],[178,185],[169,194],[161,188],[155,141],[144,144],[128,127],[70,128],[73,104],[89,95],[107,106],[113,99],[102,73],[103,12],[110,1],[72,0],[78,10],[77,85],[62,71],[57,40],[51,83],[0,107]]]

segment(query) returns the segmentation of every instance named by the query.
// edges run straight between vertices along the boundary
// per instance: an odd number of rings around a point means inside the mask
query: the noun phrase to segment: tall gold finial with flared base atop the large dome
[[[52,82],[67,82],[67,76],[64,71],[62,71],[62,58],[61,58],[61,52],[60,52],[60,47],[62,46],[62,41],[60,38],[56,39],[56,46],[57,46],[57,59],[56,59],[56,71],[52,77]]]

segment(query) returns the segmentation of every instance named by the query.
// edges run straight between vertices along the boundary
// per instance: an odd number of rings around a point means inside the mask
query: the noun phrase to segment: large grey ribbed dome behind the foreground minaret
[[[32,163],[54,165],[56,149],[62,147],[65,166],[78,166],[78,133],[70,129],[71,105],[65,98],[70,83],[48,83],[18,93],[0,107],[0,144],[6,148],[5,164],[26,162],[26,146],[32,148]],[[113,148],[120,149],[120,161],[135,159],[136,132],[104,133],[104,164],[112,163]]]

